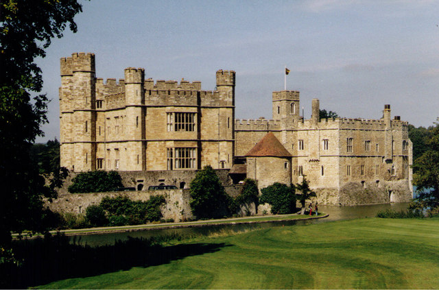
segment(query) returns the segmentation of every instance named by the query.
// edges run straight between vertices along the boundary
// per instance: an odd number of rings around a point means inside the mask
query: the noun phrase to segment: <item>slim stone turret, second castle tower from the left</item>
[[[126,123],[128,154],[126,164],[132,170],[145,170],[145,69],[125,69]]]

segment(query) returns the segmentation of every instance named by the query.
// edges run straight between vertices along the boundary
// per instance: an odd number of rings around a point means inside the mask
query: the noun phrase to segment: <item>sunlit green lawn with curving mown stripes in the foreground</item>
[[[187,242],[185,249],[191,245],[211,250],[178,252],[160,265],[72,278],[41,288],[439,288],[439,219],[375,218],[285,226],[200,238]]]

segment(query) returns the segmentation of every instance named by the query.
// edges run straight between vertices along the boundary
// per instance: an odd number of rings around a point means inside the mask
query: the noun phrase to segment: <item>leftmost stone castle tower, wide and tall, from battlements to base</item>
[[[95,55],[61,58],[60,162],[75,171],[95,169]]]

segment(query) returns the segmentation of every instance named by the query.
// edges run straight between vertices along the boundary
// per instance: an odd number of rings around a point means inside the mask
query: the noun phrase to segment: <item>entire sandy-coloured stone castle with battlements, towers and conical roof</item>
[[[159,182],[187,187],[211,165],[230,184],[249,177],[259,188],[306,176],[321,204],[412,198],[408,123],[392,119],[390,105],[378,120],[320,120],[313,99],[304,119],[299,92],[281,90],[272,95],[272,120],[239,120],[235,71],[217,71],[213,91],[200,82],[154,83],[135,68],[104,83],[93,53],[61,58],[61,82],[61,166],[71,171],[134,172],[132,184],[142,190]]]

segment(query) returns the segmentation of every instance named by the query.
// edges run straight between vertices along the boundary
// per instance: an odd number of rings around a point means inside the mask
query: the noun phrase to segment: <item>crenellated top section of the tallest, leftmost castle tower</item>
[[[72,53],[71,58],[61,58],[61,76],[73,75],[75,71],[95,72],[95,53]]]

